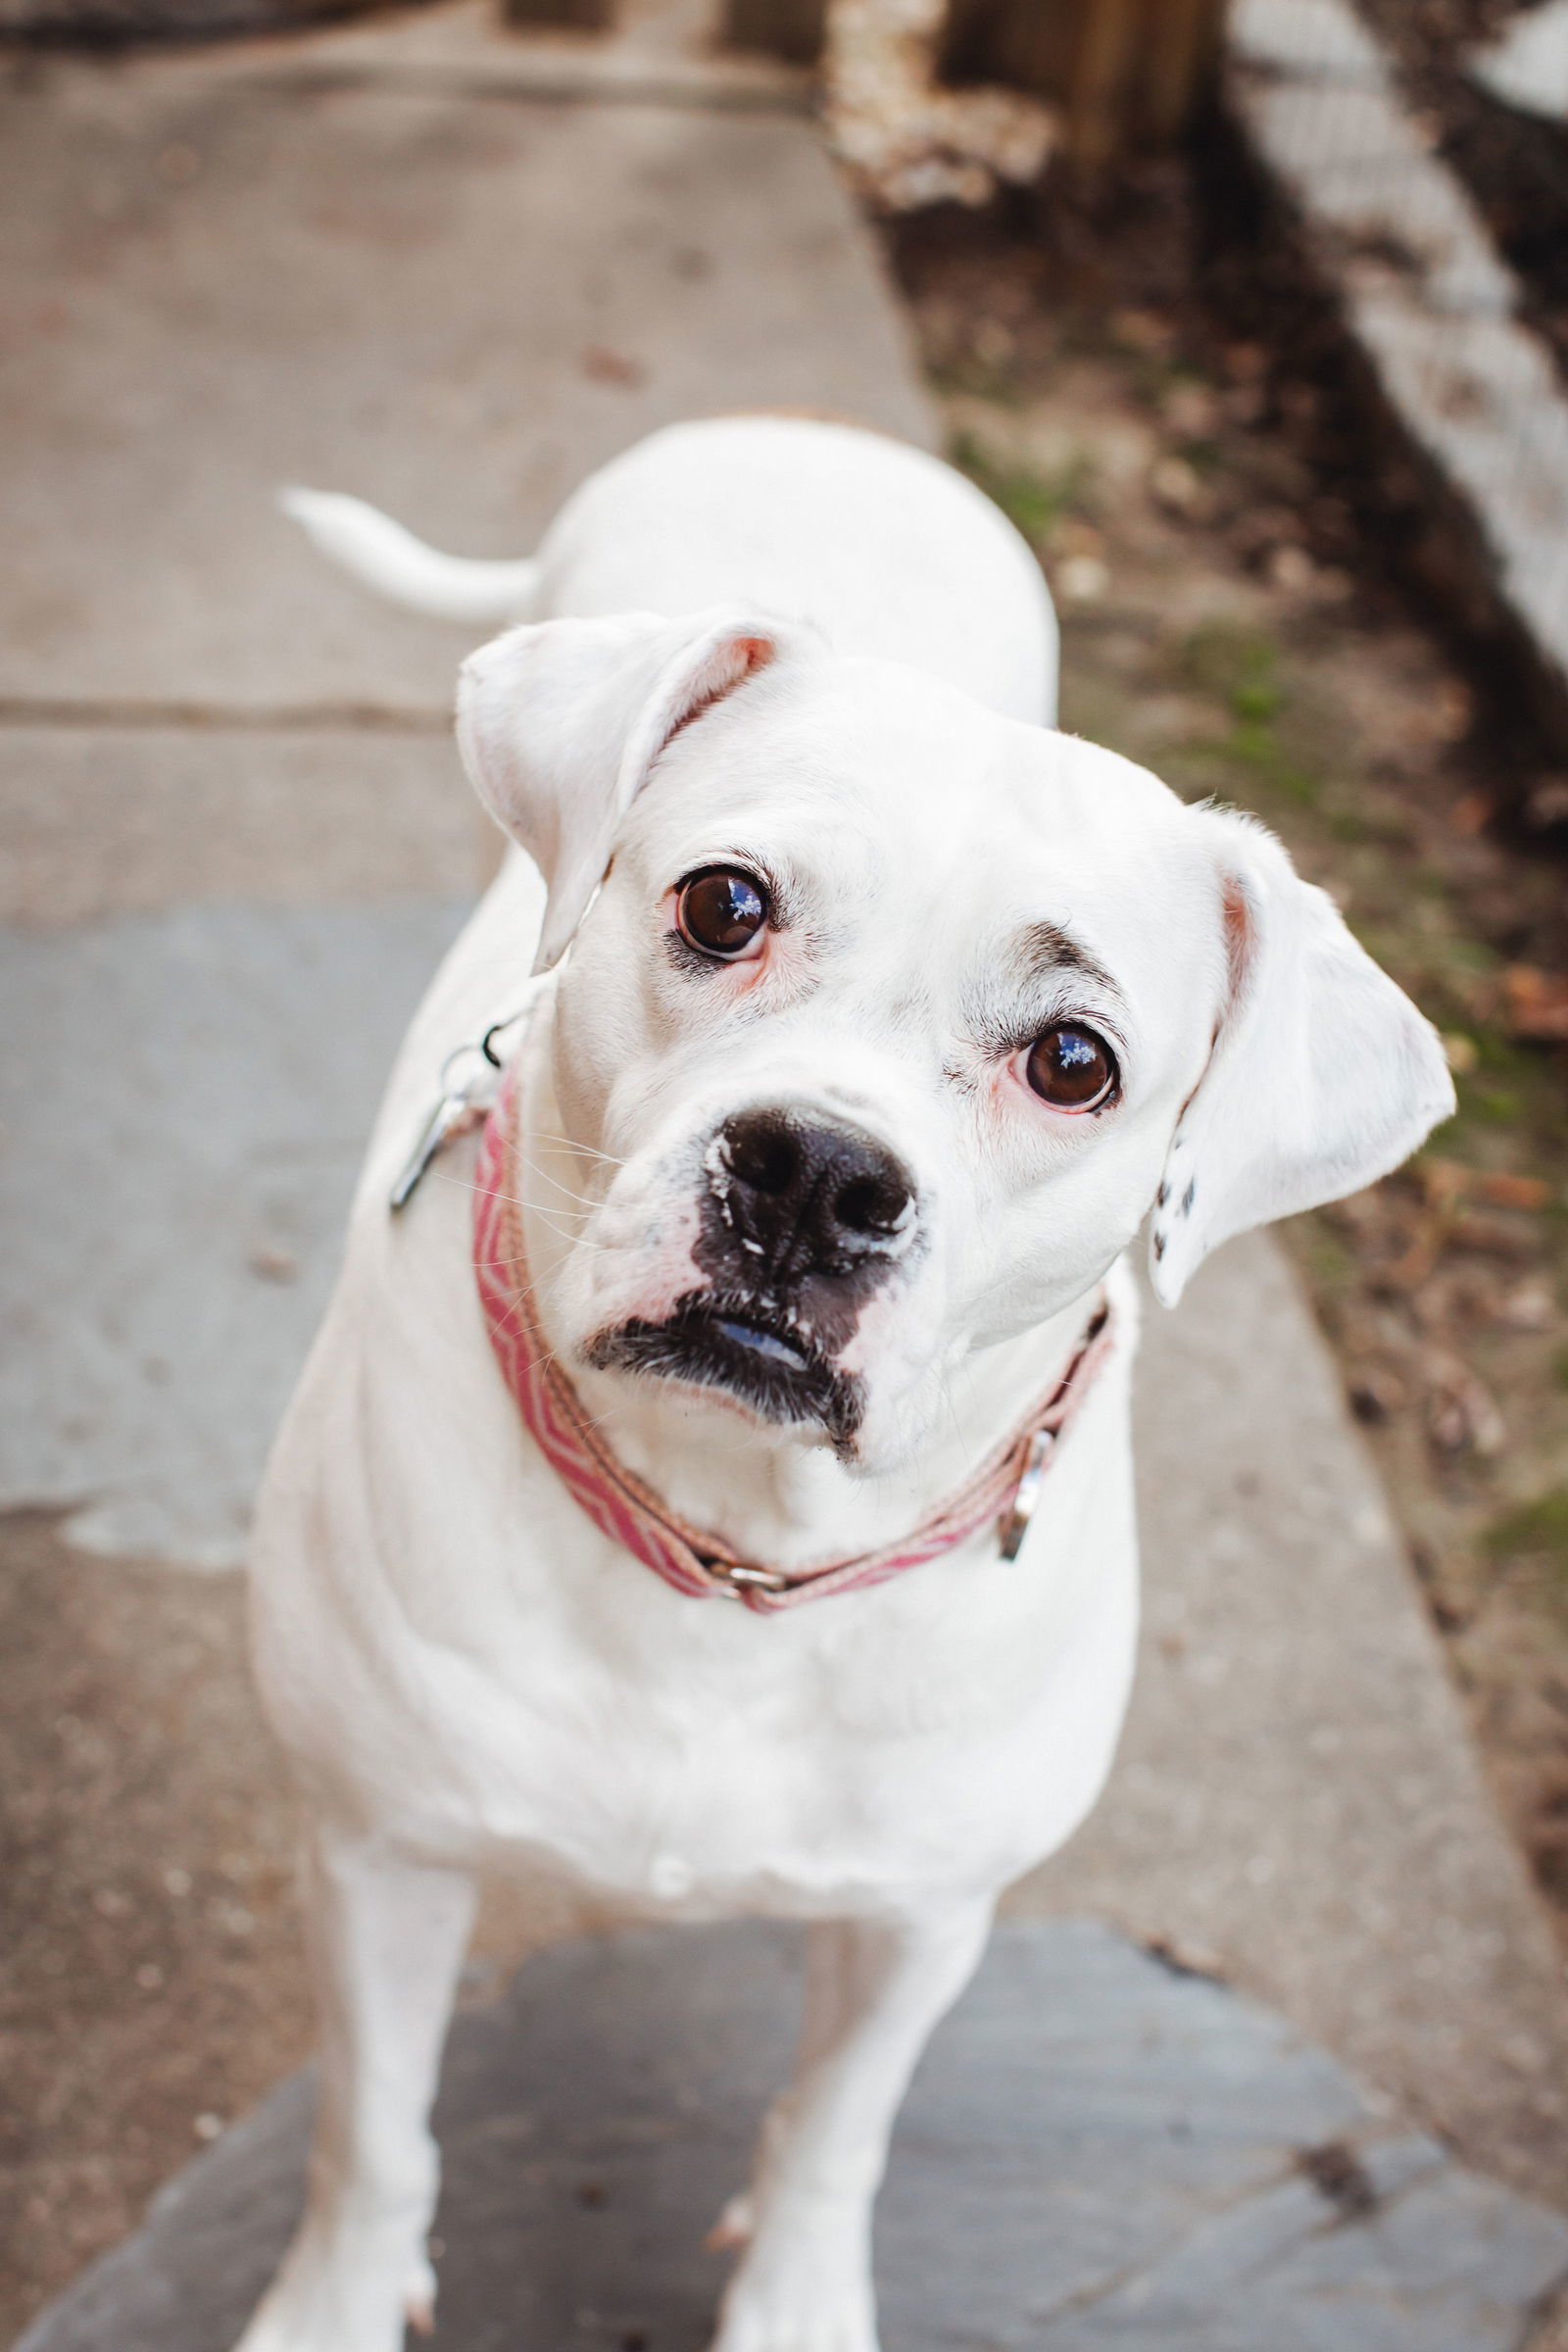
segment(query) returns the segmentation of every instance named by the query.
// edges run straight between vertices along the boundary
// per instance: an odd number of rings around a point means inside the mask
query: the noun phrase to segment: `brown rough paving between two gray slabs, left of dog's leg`
[[[0,2340],[299,2065],[294,1806],[240,1578],[0,1519]]]

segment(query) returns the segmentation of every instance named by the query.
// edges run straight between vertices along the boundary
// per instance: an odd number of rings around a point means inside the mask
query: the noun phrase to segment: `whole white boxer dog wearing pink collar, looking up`
[[[1053,731],[1039,572],[914,449],[677,426],[531,564],[294,510],[393,595],[524,614],[458,696],[520,849],[404,1044],[256,1522],[324,2058],[244,2352],[430,2324],[484,1872],[583,1924],[811,1922],[717,2343],[872,2352],[910,2070],[1128,1696],[1124,1254],[1152,1211],[1173,1303],[1385,1174],[1443,1054],[1260,826]]]

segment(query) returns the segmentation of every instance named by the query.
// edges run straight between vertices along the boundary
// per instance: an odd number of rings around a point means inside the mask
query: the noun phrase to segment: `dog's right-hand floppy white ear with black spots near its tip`
[[[1436,1030],[1333,898],[1253,818],[1194,818],[1218,828],[1229,985],[1154,1200],[1150,1275],[1168,1308],[1232,1232],[1387,1176],[1453,1110]]]

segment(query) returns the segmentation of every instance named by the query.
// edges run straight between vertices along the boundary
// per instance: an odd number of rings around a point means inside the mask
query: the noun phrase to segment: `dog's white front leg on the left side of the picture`
[[[475,1889],[458,1870],[317,1828],[308,1929],[322,2018],[306,2218],[240,2352],[400,2352],[430,2326],[428,2131]]]

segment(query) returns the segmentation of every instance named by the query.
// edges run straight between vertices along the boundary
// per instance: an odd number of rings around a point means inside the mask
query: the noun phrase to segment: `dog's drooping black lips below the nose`
[[[752,1331],[771,1348],[750,1345]],[[663,1322],[632,1317],[590,1341],[595,1371],[642,1371],[665,1381],[722,1388],[764,1421],[816,1421],[837,1449],[860,1428],[863,1402],[809,1331],[771,1301],[698,1291],[679,1298]]]

